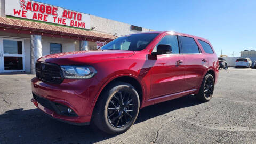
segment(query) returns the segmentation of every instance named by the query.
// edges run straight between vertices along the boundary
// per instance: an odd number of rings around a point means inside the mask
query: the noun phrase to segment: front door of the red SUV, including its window
[[[157,55],[151,60],[151,97],[172,94],[183,91],[185,60],[180,53],[178,37],[176,35],[164,36],[157,45],[168,44],[172,46],[171,54]],[[157,45],[153,52],[157,51]]]

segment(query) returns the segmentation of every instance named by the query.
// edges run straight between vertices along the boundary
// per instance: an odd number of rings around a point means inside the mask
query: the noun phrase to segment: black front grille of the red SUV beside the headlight
[[[36,77],[42,81],[54,84],[60,84],[63,81],[60,67],[52,63],[37,62]]]

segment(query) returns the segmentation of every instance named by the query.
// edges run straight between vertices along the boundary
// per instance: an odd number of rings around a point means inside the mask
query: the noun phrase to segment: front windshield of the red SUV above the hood
[[[133,34],[123,37],[119,37],[114,41],[107,43],[102,46],[101,50],[128,50],[128,51],[141,51],[145,49],[148,44],[158,35],[159,33],[144,33],[144,34]]]

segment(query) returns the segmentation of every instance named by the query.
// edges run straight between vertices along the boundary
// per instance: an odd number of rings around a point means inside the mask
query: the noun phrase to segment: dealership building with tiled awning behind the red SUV
[[[0,73],[35,73],[49,54],[94,50],[123,35],[153,31],[29,0],[0,0]]]

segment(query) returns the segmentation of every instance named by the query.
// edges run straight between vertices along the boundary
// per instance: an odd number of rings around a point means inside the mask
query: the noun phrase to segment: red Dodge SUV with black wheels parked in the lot
[[[209,101],[218,67],[204,38],[170,31],[126,35],[98,50],[38,59],[31,101],[54,119],[119,134],[143,107],[188,94]]]

